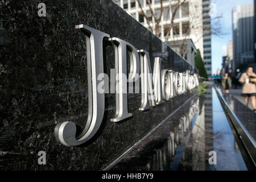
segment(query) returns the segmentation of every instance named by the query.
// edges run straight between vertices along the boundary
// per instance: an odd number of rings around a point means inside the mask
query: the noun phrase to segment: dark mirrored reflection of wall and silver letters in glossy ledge
[[[193,98],[163,123],[153,134],[138,144],[112,170],[169,170],[171,162],[178,164],[187,143],[196,115],[199,98]]]

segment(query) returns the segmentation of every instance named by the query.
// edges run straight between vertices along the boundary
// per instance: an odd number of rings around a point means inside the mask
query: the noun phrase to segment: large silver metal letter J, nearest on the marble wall
[[[85,143],[100,128],[105,109],[105,95],[97,92],[101,80],[97,76],[103,73],[103,46],[102,41],[108,34],[95,30],[84,24],[77,25],[86,35],[86,52],[88,68],[88,119],[86,126],[76,138],[76,125],[73,122],[63,122],[55,127],[55,137],[65,146],[78,146]]]

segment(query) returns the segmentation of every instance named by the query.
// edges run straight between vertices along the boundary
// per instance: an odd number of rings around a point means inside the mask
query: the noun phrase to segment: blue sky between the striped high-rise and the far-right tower
[[[238,5],[252,4],[253,0],[212,0],[216,3],[217,15],[220,19],[221,31],[224,35],[212,35],[212,74],[216,74],[217,68],[221,68],[222,47],[228,48],[228,42],[232,41],[232,9]]]

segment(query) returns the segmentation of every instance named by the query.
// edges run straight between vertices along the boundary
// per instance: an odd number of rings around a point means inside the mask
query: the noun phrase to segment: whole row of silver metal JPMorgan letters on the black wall
[[[115,117],[110,119],[119,122],[131,117],[127,109],[127,82],[134,84],[135,93],[141,92],[141,111],[150,109],[177,95],[183,94],[199,85],[197,74],[186,70],[175,72],[162,69],[162,58],[155,57],[153,72],[149,53],[137,50],[132,44],[119,38],[110,38],[104,32],[95,30],[84,24],[77,25],[84,32],[87,49],[88,72],[88,119],[82,133],[76,137],[76,125],[66,121],[55,127],[55,137],[65,146],[79,146],[91,139],[101,126],[105,110],[106,79],[104,74],[103,40],[108,39],[115,51]],[[129,59],[127,57],[129,55]],[[130,63],[127,73],[127,61]],[[141,86],[141,91],[139,91]],[[133,87],[133,86],[132,86]],[[136,89],[137,88],[137,89]],[[111,92],[110,88],[110,92]],[[129,86],[130,90],[130,86]]]

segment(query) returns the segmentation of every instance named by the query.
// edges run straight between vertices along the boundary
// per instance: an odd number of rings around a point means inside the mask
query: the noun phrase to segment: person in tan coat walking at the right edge
[[[253,67],[248,67],[246,72],[242,74],[239,81],[243,84],[242,96],[245,97],[245,105],[248,106],[248,100],[250,97],[253,110],[256,110],[256,74],[253,72]]]

